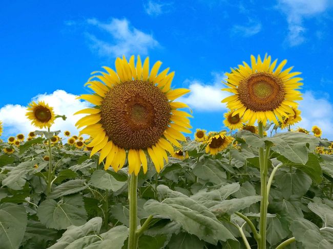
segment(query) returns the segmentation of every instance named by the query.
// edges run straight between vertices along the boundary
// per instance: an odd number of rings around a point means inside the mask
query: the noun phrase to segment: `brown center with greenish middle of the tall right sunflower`
[[[285,96],[282,80],[266,72],[255,73],[242,80],[238,93],[242,104],[253,111],[274,110]]]

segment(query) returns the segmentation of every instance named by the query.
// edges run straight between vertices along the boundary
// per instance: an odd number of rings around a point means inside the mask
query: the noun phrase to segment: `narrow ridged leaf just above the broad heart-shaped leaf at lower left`
[[[88,188],[88,185],[85,185],[85,180],[81,179],[69,180],[68,182],[60,184],[59,186],[55,187],[48,197],[56,199],[63,195],[80,192],[86,188]]]

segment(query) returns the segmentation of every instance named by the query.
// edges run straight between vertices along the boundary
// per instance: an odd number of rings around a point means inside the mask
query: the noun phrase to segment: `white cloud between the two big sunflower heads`
[[[214,77],[212,84],[205,84],[200,80],[186,80],[191,92],[187,96],[179,98],[179,101],[198,111],[226,110],[226,106],[221,103],[221,100],[230,94],[221,91],[221,88],[224,87],[221,83],[225,78],[224,73],[212,73],[212,75]]]

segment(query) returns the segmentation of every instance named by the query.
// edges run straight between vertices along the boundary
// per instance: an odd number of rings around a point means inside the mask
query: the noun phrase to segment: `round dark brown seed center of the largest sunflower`
[[[100,123],[119,147],[148,148],[168,128],[170,111],[168,98],[157,86],[147,81],[127,81],[106,94]]]

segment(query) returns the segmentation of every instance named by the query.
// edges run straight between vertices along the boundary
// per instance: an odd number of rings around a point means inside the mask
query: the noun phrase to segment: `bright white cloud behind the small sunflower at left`
[[[69,130],[71,133],[77,134],[75,123],[84,115],[73,116],[73,114],[89,105],[87,102],[75,99],[76,97],[76,95],[69,94],[64,90],[56,90],[52,94],[37,95],[32,100],[43,100],[53,107],[56,115],[66,115],[66,121],[61,118],[55,120],[51,127],[52,130]],[[29,131],[39,130],[39,128],[31,125],[31,121],[26,118],[26,109],[26,106],[14,104],[7,104],[0,109],[0,120],[3,121],[4,125],[4,137],[16,135],[17,133],[27,134]]]

